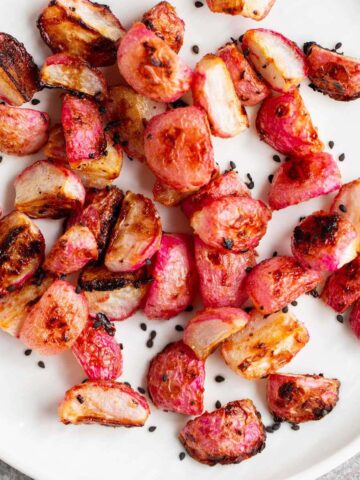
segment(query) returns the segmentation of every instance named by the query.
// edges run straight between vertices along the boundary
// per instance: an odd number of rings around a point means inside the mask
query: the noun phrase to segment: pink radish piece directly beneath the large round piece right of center
[[[245,279],[256,252],[223,253],[195,236],[195,262],[205,307],[241,307],[247,300]]]

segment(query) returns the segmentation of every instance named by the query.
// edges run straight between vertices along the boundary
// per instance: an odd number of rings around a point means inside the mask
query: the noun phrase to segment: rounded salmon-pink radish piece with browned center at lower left
[[[70,283],[56,280],[26,317],[20,340],[42,355],[56,355],[72,347],[87,317],[84,296]]]

